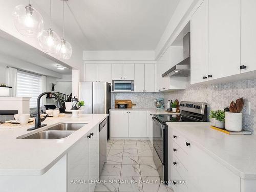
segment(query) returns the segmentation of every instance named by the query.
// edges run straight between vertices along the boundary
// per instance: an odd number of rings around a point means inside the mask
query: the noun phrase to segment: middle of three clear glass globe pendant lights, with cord
[[[50,0],[50,22],[52,26],[52,1]],[[46,53],[55,53],[57,44],[60,38],[57,33],[55,33],[51,28],[42,31],[39,36],[39,45],[43,51]]]

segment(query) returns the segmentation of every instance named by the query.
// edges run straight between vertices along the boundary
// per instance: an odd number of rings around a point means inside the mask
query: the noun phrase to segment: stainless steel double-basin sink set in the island
[[[61,139],[68,137],[86,124],[88,123],[60,123],[49,127],[47,130],[27,137],[20,136],[17,139]]]

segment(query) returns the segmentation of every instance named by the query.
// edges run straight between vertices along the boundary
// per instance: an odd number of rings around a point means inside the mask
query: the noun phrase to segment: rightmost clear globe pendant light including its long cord
[[[62,0],[62,39],[57,45],[56,54],[61,59],[69,59],[73,50],[70,43],[64,39],[64,1],[67,0]]]

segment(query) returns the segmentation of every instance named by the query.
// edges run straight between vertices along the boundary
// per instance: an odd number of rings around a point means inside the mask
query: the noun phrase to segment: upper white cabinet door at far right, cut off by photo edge
[[[241,0],[241,73],[256,73],[256,1]]]

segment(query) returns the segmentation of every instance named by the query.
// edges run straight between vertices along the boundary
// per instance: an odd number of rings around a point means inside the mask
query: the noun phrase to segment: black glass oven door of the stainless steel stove
[[[164,149],[164,143],[165,143],[165,124],[162,124],[157,120],[157,118],[152,117],[153,121],[153,146],[155,148],[155,151],[161,161],[161,163],[164,165],[165,163],[165,149]]]

